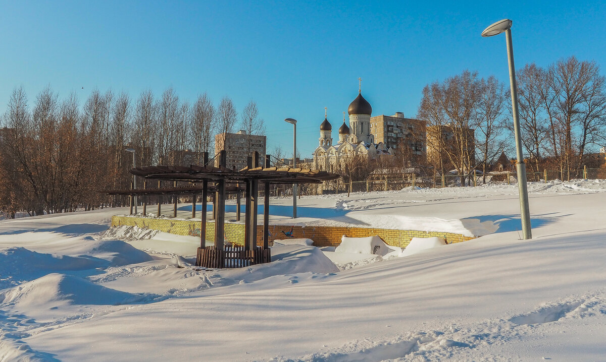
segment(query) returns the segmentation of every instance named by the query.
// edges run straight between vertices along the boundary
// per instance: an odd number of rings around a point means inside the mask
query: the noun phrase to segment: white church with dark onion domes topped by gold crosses
[[[366,159],[376,159],[381,156],[393,155],[393,150],[383,142],[375,143],[375,135],[370,132],[370,116],[373,108],[364,97],[362,90],[358,97],[347,108],[349,126],[343,124],[339,127],[339,141],[333,145],[333,127],[324,114],[324,122],[320,125],[320,144],[313,153],[313,166],[316,169],[333,171],[345,159],[362,156]]]

